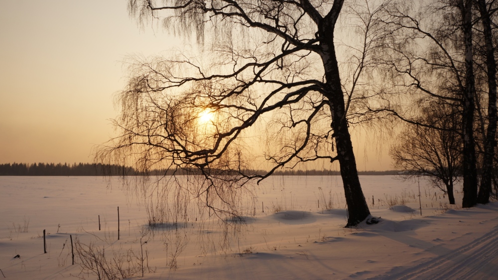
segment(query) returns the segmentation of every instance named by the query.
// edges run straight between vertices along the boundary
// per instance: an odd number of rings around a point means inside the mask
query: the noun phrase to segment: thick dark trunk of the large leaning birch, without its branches
[[[348,130],[344,93],[341,86],[339,66],[334,48],[334,25],[341,10],[342,1],[334,1],[330,13],[324,18],[320,28],[321,58],[325,70],[326,93],[332,115],[332,129],[336,141],[337,156],[341,168],[344,194],[348,206],[346,227],[358,225],[367,219],[370,210],[363,194],[356,167],[353,144]]]

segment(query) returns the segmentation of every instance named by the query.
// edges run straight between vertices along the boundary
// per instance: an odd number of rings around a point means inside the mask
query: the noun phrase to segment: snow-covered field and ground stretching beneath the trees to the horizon
[[[344,228],[339,176],[272,176],[255,190],[247,225],[229,221],[225,235],[215,215],[149,230],[142,200],[116,179],[3,176],[0,279],[98,279],[99,264],[123,275],[135,264],[134,279],[142,268],[143,279],[498,279],[497,203],[450,207],[421,178],[420,215],[418,182],[360,179],[378,224]],[[76,252],[71,265],[70,236],[93,252],[87,269]]]

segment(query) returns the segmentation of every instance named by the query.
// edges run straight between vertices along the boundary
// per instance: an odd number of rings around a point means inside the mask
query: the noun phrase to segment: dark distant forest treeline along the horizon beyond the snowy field
[[[194,170],[167,170],[154,169],[148,172],[149,175],[185,175],[196,174]],[[264,170],[248,170],[248,174],[265,174]],[[399,171],[359,171],[360,175],[396,175]],[[132,167],[123,167],[120,165],[110,165],[101,163],[4,163],[0,164],[0,176],[104,176],[104,175],[144,175],[144,172],[138,172]],[[317,176],[317,175],[340,175],[339,171],[334,170],[278,170],[274,175],[284,176]]]

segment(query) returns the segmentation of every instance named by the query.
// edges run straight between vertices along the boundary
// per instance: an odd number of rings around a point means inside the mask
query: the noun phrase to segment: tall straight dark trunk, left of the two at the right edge
[[[465,89],[462,94],[463,177],[462,207],[477,204],[476,143],[474,140],[475,79],[472,56],[472,1],[459,0],[465,43]]]

